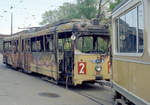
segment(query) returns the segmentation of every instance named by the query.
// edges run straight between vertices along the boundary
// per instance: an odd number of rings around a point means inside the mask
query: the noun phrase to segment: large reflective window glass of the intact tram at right
[[[143,30],[141,30],[143,26],[143,12],[141,8],[142,5],[132,9],[116,20],[118,52],[143,52]]]

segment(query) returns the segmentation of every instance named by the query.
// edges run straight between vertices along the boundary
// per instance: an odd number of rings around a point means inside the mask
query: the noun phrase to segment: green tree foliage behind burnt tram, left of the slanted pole
[[[77,0],[76,4],[64,3],[57,10],[46,11],[40,24],[45,25],[61,19],[92,19],[97,15],[97,5],[98,0]]]

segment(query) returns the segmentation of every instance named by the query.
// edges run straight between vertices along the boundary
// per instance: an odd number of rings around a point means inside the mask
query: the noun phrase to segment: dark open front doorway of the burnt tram
[[[72,77],[74,53],[73,53],[73,41],[71,35],[59,35],[58,49],[59,49],[59,71],[61,72],[61,78],[66,80],[66,77]]]

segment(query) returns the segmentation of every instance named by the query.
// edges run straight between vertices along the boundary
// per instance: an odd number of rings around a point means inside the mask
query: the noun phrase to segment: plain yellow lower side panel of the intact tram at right
[[[150,102],[150,65],[113,61],[113,81]]]

